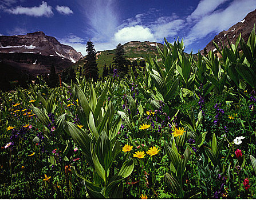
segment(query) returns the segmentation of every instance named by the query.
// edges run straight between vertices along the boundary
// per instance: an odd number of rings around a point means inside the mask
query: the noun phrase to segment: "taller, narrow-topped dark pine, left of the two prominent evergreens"
[[[97,81],[99,79],[99,69],[97,67],[96,62],[96,51],[94,49],[93,42],[88,41],[86,44],[86,63],[84,65],[84,76],[88,79],[93,79],[93,81]]]

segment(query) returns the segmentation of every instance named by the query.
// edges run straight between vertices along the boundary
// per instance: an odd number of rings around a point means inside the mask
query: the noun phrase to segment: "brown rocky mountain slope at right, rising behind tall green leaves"
[[[222,32],[220,32],[218,35],[214,37],[214,39],[212,39],[212,41],[218,44],[218,46],[221,46],[220,41],[222,41],[223,45],[225,43],[225,46],[226,46],[228,44],[227,37],[229,37],[230,43],[232,42],[233,44],[235,44],[239,34],[241,33],[242,38],[245,40],[245,42],[247,42],[250,36],[251,30],[253,30],[255,23],[256,23],[256,10],[251,11],[249,14],[246,15],[245,18],[243,18],[242,21],[230,27],[229,30],[227,31],[223,30]],[[216,51],[212,41],[206,45],[207,52],[209,52],[209,50]],[[203,50],[201,51],[201,53],[203,54]]]

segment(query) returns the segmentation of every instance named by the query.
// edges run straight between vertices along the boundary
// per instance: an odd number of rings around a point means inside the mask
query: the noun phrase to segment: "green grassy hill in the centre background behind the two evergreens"
[[[125,50],[125,57],[129,61],[142,61],[145,59],[146,55],[150,55],[152,58],[155,58],[156,55],[158,56],[157,50],[156,50],[156,44],[160,47],[160,49],[163,49],[162,43],[157,42],[139,42],[139,41],[131,41],[127,42],[123,45]],[[99,67],[99,75],[101,76],[103,73],[103,67],[104,63],[106,63],[106,66],[108,67],[109,64],[113,65],[113,58],[115,57],[115,51],[113,50],[105,50],[105,51],[97,51],[97,58],[96,62],[98,63]],[[78,62],[74,64],[75,67],[83,67],[85,63],[85,58],[81,58]]]

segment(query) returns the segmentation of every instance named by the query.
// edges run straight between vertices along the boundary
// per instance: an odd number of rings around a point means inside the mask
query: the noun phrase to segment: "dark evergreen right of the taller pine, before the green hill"
[[[124,55],[124,47],[121,45],[121,43],[119,43],[119,45],[116,46],[115,57],[113,58],[113,60],[115,69],[117,69],[117,73],[121,77],[123,77],[125,74],[128,74],[128,65]]]

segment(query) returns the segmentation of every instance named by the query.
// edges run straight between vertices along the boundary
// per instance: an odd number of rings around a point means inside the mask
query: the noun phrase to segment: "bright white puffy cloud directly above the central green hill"
[[[155,38],[148,27],[124,27],[115,33],[115,41],[125,43],[129,41],[153,41]]]

